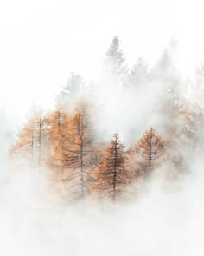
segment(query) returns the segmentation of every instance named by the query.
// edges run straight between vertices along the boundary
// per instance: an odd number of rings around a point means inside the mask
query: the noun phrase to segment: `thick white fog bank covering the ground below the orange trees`
[[[47,178],[23,170],[1,184],[4,255],[203,254],[200,171],[171,184],[156,174],[137,201],[114,207],[56,200]]]

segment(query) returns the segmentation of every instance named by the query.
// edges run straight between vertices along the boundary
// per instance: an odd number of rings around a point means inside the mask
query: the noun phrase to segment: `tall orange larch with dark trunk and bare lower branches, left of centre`
[[[68,169],[65,181],[72,181],[69,183],[73,187],[73,193],[77,194],[77,198],[84,198],[88,193],[90,162],[94,151],[86,105],[80,105],[78,112],[70,119],[65,141],[67,144],[63,147],[63,155]]]

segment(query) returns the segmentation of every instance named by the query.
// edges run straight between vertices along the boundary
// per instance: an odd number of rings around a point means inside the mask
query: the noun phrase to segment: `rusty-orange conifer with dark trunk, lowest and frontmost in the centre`
[[[96,167],[95,184],[92,186],[94,194],[118,200],[128,183],[127,173],[124,169],[124,144],[115,134],[105,148],[104,159]]]

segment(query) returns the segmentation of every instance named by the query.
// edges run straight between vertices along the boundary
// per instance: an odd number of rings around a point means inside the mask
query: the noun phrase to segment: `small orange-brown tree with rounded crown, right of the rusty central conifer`
[[[147,174],[158,165],[157,160],[162,157],[163,150],[163,139],[156,134],[154,128],[150,128],[138,143],[138,154],[142,157],[141,164]]]

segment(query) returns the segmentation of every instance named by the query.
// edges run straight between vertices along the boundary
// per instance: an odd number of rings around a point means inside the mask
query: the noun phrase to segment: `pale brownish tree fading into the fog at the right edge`
[[[165,135],[169,165],[174,170],[171,176],[176,177],[189,171],[188,159],[194,155],[195,148],[201,150],[203,135],[203,113],[200,106],[181,98],[169,120]]]

